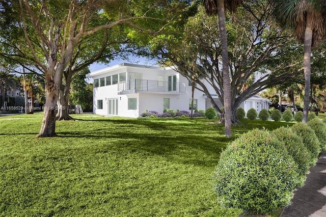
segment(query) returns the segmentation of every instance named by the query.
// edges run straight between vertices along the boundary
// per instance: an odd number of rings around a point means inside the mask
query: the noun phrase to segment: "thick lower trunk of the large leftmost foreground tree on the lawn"
[[[56,134],[56,108],[58,89],[50,73],[45,76],[45,106],[41,131],[38,137],[55,137]]]

